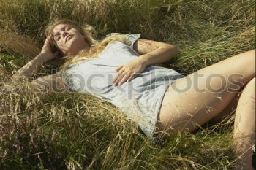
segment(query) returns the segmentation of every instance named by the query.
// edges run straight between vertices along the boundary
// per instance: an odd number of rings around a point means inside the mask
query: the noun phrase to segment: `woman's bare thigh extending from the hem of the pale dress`
[[[227,58],[177,80],[167,88],[156,132],[195,131],[222,112],[252,77],[255,77],[255,50]]]

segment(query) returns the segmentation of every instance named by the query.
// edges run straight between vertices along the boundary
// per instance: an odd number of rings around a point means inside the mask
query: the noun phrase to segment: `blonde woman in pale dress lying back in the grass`
[[[63,57],[60,72],[31,84],[103,98],[135,120],[153,140],[195,131],[236,109],[233,141],[240,156],[237,169],[253,169],[255,50],[184,76],[154,66],[169,61],[178,53],[177,47],[140,39],[140,34],[109,34],[97,41],[91,26],[56,20],[45,35],[41,53],[13,77],[30,77],[45,61]]]

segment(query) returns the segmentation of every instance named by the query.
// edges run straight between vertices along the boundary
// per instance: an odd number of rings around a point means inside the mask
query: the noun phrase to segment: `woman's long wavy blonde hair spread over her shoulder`
[[[99,55],[102,50],[105,49],[105,47],[114,41],[123,42],[126,45],[130,45],[131,42],[127,38],[127,35],[129,34],[113,34],[111,36],[107,36],[102,40],[94,39],[96,36],[96,31],[93,26],[90,26],[89,24],[84,24],[84,26],[80,26],[78,23],[75,23],[75,21],[67,20],[67,19],[61,19],[61,20],[53,20],[47,28],[45,28],[45,36],[48,37],[50,34],[53,34],[53,28],[59,24],[67,24],[68,26],[72,26],[73,28],[77,29],[80,34],[84,36],[84,39],[86,43],[90,46],[90,49],[88,51],[81,50],[80,53],[77,55],[67,55],[65,56],[65,63],[61,66],[61,72],[64,73],[67,67],[72,63],[78,63],[80,61],[87,60],[89,58],[96,58],[97,55]],[[52,49],[59,50],[57,45],[54,41],[50,42]],[[59,50],[61,53],[61,50]],[[64,55],[64,53],[61,53],[61,55]]]

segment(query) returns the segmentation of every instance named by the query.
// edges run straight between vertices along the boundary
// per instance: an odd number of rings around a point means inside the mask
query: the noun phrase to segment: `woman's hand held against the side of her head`
[[[45,39],[45,44],[42,46],[42,50],[40,53],[40,57],[42,57],[45,61],[52,60],[53,58],[56,58],[59,54],[58,51],[56,51],[56,53],[52,52],[50,47],[50,41],[53,41],[53,35],[50,35]]]

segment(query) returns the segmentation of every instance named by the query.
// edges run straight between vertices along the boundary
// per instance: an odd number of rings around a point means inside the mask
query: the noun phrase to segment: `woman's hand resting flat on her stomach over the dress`
[[[132,61],[125,63],[124,65],[118,66],[116,71],[116,77],[113,79],[114,85],[121,85],[124,82],[130,82],[136,74],[143,72],[146,68],[146,62],[142,60],[142,58],[138,57]]]

